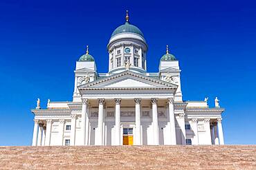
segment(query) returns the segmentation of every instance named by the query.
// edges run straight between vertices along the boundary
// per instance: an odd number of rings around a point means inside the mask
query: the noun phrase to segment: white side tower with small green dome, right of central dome
[[[182,102],[181,92],[181,70],[179,68],[179,61],[173,54],[170,54],[168,45],[166,45],[166,54],[161,57],[159,64],[159,76],[162,81],[167,81],[174,85],[178,85],[174,100]]]

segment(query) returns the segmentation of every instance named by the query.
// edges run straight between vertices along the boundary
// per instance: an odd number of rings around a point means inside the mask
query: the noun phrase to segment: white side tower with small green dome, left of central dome
[[[93,56],[89,54],[89,46],[86,46],[86,54],[80,56],[75,66],[75,87],[73,92],[73,102],[81,102],[81,95],[77,89],[84,83],[94,81],[97,76],[97,67]]]

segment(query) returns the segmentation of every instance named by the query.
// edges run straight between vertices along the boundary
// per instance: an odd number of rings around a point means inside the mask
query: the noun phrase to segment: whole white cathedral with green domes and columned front
[[[179,61],[168,47],[159,71],[147,72],[148,46],[128,14],[107,50],[107,73],[97,71],[88,46],[76,62],[73,101],[48,100],[42,109],[37,100],[33,146],[224,144],[219,100],[213,108],[208,98],[183,100]]]

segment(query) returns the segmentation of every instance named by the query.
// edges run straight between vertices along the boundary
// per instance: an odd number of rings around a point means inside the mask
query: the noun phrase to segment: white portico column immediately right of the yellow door
[[[135,145],[141,145],[140,130],[140,102],[141,98],[134,98],[135,101]]]

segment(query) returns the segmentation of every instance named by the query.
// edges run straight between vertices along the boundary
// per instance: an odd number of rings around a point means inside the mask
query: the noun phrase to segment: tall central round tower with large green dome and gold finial
[[[113,31],[107,45],[109,74],[125,71],[127,63],[133,72],[143,73],[147,70],[147,43],[143,32],[129,23],[128,11],[125,18],[125,24]]]

